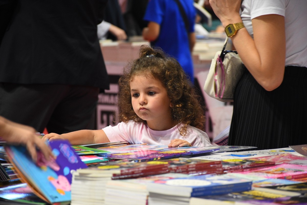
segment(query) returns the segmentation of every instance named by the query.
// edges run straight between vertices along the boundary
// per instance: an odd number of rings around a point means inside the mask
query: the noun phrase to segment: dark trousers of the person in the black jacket
[[[38,132],[94,129],[98,93],[80,85],[0,83],[0,115]]]

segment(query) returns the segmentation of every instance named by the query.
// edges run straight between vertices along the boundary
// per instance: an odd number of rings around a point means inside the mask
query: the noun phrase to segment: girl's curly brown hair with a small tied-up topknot
[[[134,120],[146,123],[139,118],[131,103],[130,81],[137,75],[152,75],[160,80],[171,99],[171,117],[182,136],[186,135],[187,125],[204,130],[204,110],[200,105],[200,97],[188,79],[181,65],[173,57],[167,56],[160,48],[142,45],[139,58],[130,62],[119,79],[119,118],[123,122]]]

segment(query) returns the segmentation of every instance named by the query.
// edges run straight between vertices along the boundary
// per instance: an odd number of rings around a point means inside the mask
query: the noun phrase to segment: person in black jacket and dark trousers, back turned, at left
[[[94,128],[99,90],[109,89],[97,37],[106,2],[11,4],[0,22],[6,25],[0,39],[1,116],[38,132]],[[6,3],[11,1],[0,2],[0,13]]]

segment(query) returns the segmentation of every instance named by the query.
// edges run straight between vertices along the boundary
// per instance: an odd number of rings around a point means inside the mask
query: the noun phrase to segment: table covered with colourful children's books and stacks
[[[127,142],[71,146],[60,140],[50,146],[56,159],[46,162],[41,155],[37,164],[24,147],[1,146],[1,204],[307,203],[307,145],[256,150]]]

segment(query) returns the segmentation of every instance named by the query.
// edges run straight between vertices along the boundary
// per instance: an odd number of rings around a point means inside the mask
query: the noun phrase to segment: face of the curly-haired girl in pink
[[[134,112],[153,130],[172,128],[171,99],[161,81],[153,76],[134,76],[130,81],[131,102]]]

